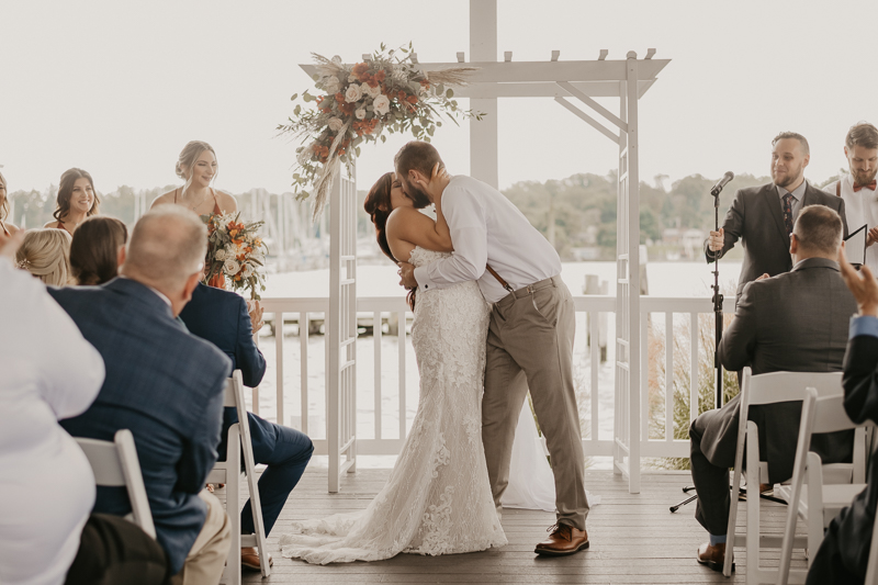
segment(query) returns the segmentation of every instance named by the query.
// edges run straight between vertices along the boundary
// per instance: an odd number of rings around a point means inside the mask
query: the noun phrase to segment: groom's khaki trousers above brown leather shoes
[[[573,297],[560,277],[494,304],[487,333],[482,441],[494,504],[509,483],[513,440],[528,389],[552,459],[559,522],[585,530],[579,412],[573,384]]]

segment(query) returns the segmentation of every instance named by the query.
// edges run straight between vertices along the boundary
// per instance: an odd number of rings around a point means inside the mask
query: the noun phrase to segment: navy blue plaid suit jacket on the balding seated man
[[[171,574],[178,573],[206,518],[198,494],[216,462],[232,364],[185,333],[165,300],[134,280],[48,291],[106,365],[94,403],[60,424],[74,437],[109,441],[131,429],[158,542]],[[131,511],[124,488],[99,487],[94,511]]]

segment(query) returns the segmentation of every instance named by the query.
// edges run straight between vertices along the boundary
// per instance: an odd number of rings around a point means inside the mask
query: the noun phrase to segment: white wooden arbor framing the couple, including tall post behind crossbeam
[[[669,59],[653,59],[655,49],[649,49],[643,59],[629,52],[624,59],[608,60],[601,50],[596,60],[561,61],[560,52],[553,50],[550,61],[513,61],[506,52],[504,61],[497,59],[497,1],[470,0],[470,61],[464,53],[457,54],[457,63],[420,64],[425,70],[451,67],[477,67],[469,78],[469,86],[455,88],[460,98],[469,98],[473,110],[485,113],[481,122],[470,124],[470,173],[488,184],[498,187],[497,173],[497,99],[498,98],[553,98],[585,123],[600,132],[618,147],[617,201],[617,281],[616,281],[616,397],[611,453],[614,471],[629,480],[629,492],[640,492],[641,447],[641,379],[640,335],[640,176],[638,146],[638,101],[652,87],[658,72]],[[416,59],[416,57],[415,57]],[[301,65],[313,76],[313,65]],[[594,98],[618,98],[618,115],[600,105]],[[571,100],[575,100],[574,104]],[[588,112],[581,108],[585,106]],[[595,120],[595,116],[600,120]],[[350,184],[346,182],[346,185]],[[356,246],[351,250],[345,238],[351,239],[356,225],[342,217],[356,210],[339,210],[341,193],[356,185],[342,187],[337,180],[330,195],[330,313],[327,315],[327,439],[329,446],[329,491],[338,491],[338,477],[346,469],[353,471],[356,436],[351,417],[356,412],[356,347],[347,333],[353,324],[356,338]],[[356,196],[345,198],[344,206],[356,205]],[[353,215],[356,217],[356,215]],[[341,229],[339,226],[345,226]],[[346,233],[350,229],[349,233]],[[353,271],[353,272],[352,272]],[[342,277],[341,274],[346,274]],[[345,286],[348,286],[346,290]],[[349,295],[354,294],[353,300]],[[346,325],[347,324],[347,325]],[[330,334],[331,328],[331,334]],[[337,335],[338,334],[338,335]],[[334,353],[334,357],[329,357]],[[344,372],[339,374],[339,368]],[[353,387],[351,387],[351,385]],[[593,393],[597,389],[592,389]],[[342,404],[346,396],[350,403]],[[643,401],[645,403],[645,400]],[[596,404],[596,401],[593,402]],[[334,420],[335,418],[335,420]],[[345,430],[348,428],[349,430]],[[344,431],[344,432],[342,432]],[[347,455],[342,464],[341,458]]]

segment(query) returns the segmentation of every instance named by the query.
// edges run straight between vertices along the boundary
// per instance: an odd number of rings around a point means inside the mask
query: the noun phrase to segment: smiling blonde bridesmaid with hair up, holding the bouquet
[[[217,170],[213,147],[201,140],[190,142],[180,153],[175,168],[177,176],[185,183],[156,198],[151,206],[176,203],[198,215],[237,212],[238,203],[235,198],[211,187]]]

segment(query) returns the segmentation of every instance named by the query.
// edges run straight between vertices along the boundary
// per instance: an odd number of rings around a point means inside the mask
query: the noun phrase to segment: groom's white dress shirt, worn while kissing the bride
[[[527,217],[506,196],[477,179],[455,176],[442,192],[442,214],[454,252],[415,269],[421,290],[477,280],[482,294],[496,303],[506,291],[485,265],[513,290],[561,273],[561,259]]]

